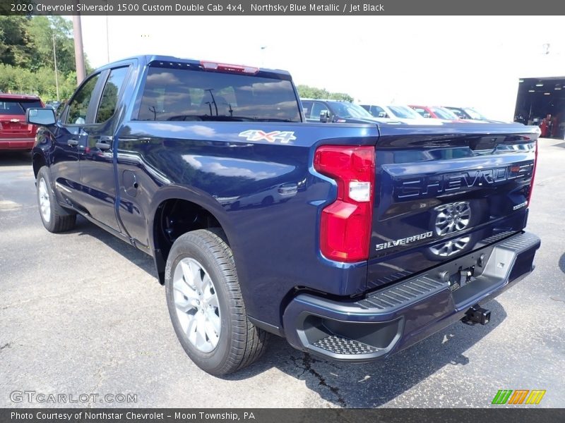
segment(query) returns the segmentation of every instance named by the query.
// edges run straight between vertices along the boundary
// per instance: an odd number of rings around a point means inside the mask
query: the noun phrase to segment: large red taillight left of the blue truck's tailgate
[[[322,254],[339,262],[369,258],[373,218],[374,147],[324,145],[316,149],[314,168],[338,185],[338,197],[321,215]]]

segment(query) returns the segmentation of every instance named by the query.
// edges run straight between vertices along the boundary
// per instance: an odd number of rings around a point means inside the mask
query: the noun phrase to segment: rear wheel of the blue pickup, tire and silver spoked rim
[[[174,242],[165,267],[167,307],[177,338],[191,360],[214,376],[256,361],[268,335],[247,318],[224,238],[217,229],[185,233]]]

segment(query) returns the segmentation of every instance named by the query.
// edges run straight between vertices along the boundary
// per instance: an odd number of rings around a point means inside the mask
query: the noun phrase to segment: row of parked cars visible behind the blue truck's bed
[[[304,116],[309,122],[397,123],[442,125],[448,122],[493,122],[470,107],[416,106],[413,104],[355,104],[343,100],[302,99]]]

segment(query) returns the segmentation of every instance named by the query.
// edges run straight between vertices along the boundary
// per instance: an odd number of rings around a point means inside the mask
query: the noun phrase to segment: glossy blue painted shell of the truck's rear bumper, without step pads
[[[513,259],[511,267],[498,276],[494,276],[494,274],[486,276],[489,279],[489,283],[485,284],[485,286],[488,285],[487,288],[477,289],[474,291],[474,295],[463,296],[463,300],[460,296],[454,294],[446,283],[440,283],[439,288],[436,286],[433,293],[422,295],[416,300],[410,300],[410,297],[397,298],[398,302],[391,302],[391,305],[394,305],[388,308],[375,307],[376,303],[371,305],[365,300],[353,302],[327,299],[309,294],[297,295],[287,306],[283,316],[287,329],[285,331],[287,341],[295,348],[309,350],[311,353],[337,360],[364,362],[393,355],[462,319],[465,312],[473,305],[477,303],[487,304],[530,274],[533,270],[535,251],[540,247],[540,239],[527,233],[506,239],[512,238],[515,240],[521,238],[521,241],[518,241],[518,245],[520,245],[518,248],[521,248],[521,252]],[[494,261],[498,262],[500,256],[496,252],[489,252],[489,250],[492,250],[496,245],[504,245],[504,243],[505,241],[495,243],[491,247],[485,247],[482,251],[485,251],[491,257],[496,257]],[[430,277],[433,274],[432,271],[425,274],[425,277]],[[412,278],[418,279],[422,275],[412,275]],[[418,282],[422,283],[421,280]],[[472,288],[473,283],[477,283],[477,281],[470,283],[467,288]],[[403,282],[399,282],[396,286],[403,286]],[[405,290],[404,293],[410,295],[410,288],[405,289],[408,290]],[[389,300],[391,298],[393,297],[389,297]],[[311,321],[308,323],[311,317],[323,321],[323,324],[320,324],[314,331]],[[377,333],[376,336],[374,336],[376,332],[369,333],[369,336],[365,333],[367,338],[364,341],[367,341],[370,345],[379,345],[379,352],[372,355],[367,353],[335,355],[328,350],[316,348],[313,343],[316,338],[327,336],[328,326],[334,329],[334,331],[331,331],[332,333],[355,339],[355,329],[367,327],[367,325],[373,325],[376,329],[379,328],[379,325],[389,326],[393,329],[392,333]],[[319,331],[323,331],[325,334],[321,334]],[[310,333],[308,334],[308,332]],[[372,339],[371,336],[373,336]]]

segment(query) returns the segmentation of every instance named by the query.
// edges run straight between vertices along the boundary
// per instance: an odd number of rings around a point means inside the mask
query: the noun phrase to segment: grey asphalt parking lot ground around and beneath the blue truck
[[[487,407],[499,389],[545,389],[565,407],[565,142],[540,140],[528,231],[534,274],[391,359],[327,362],[271,338],[262,360],[218,379],[184,354],[153,260],[85,219],[44,230],[29,154],[0,153],[0,407],[13,391],[133,393],[137,407]],[[12,396],[13,398],[13,396]],[[122,406],[101,402],[71,405]]]

